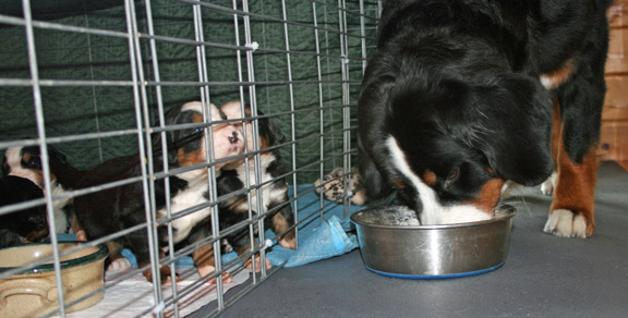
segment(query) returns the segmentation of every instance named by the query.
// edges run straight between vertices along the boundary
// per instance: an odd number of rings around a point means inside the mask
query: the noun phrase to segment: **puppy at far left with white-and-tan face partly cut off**
[[[48,159],[51,182],[50,193],[52,196],[73,189],[80,171],[68,161],[63,154],[51,146],[48,146]],[[2,173],[3,175],[16,175],[28,179],[44,189],[39,146],[8,148],[2,162]],[[73,220],[74,207],[72,199],[55,200],[53,206],[57,233],[74,232],[77,235],[77,240],[84,238],[78,224]]]

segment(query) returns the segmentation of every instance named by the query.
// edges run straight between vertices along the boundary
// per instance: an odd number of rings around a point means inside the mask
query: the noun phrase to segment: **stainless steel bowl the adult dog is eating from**
[[[443,279],[495,270],[506,260],[512,206],[499,207],[491,220],[420,225],[412,210],[384,206],[351,215],[362,259],[379,274]]]

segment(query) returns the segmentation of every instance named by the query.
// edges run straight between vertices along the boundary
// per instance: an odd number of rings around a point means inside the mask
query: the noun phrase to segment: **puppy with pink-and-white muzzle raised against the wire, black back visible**
[[[198,101],[188,102],[183,106],[171,109],[166,113],[166,125],[181,125],[191,123],[203,123],[202,103]],[[212,120],[225,119],[218,109],[210,105]],[[208,125],[200,127],[188,127],[166,133],[167,138],[167,161],[170,170],[185,168],[194,164],[209,162],[205,145],[205,130]],[[225,159],[240,155],[244,148],[244,140],[240,131],[230,124],[216,124],[213,132],[213,154],[214,159]],[[164,171],[164,158],[161,147],[161,133],[153,135],[154,149],[154,171]],[[222,160],[216,163],[216,169],[222,168],[228,161]],[[141,164],[137,155],[114,158],[105,161],[92,169],[78,180],[77,187],[86,188],[90,186],[121,181],[141,175]],[[209,208],[201,209],[184,216],[177,213],[186,210],[197,204],[206,201],[207,193],[207,168],[194,169],[170,176],[169,197],[172,211],[172,227],[174,229],[174,243],[184,240],[190,230],[200,221],[209,216]],[[155,209],[157,217],[166,215],[166,191],[164,179],[154,183]],[[142,182],[134,182],[113,188],[90,193],[74,199],[76,217],[83,225],[87,238],[95,240],[112,233],[146,223],[144,189]],[[165,246],[166,227],[158,229],[159,244]],[[122,260],[120,255],[122,247],[130,248],[140,267],[145,267],[149,261],[149,247],[146,230],[134,231],[108,243],[110,261]],[[144,270],[144,276],[148,281],[153,281],[150,269]],[[167,278],[162,282],[169,281],[170,269],[160,269],[161,278]]]

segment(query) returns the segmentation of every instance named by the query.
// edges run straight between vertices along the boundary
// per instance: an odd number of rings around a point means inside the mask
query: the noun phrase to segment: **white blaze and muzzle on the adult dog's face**
[[[436,193],[425,184],[421,178],[412,172],[406,161],[406,155],[399,148],[394,137],[388,137],[386,146],[390,151],[392,160],[390,163],[401,172],[419,192],[419,199],[423,205],[421,212],[421,224],[450,224],[488,220],[491,216],[472,205],[460,205],[454,207],[442,206],[436,199]]]

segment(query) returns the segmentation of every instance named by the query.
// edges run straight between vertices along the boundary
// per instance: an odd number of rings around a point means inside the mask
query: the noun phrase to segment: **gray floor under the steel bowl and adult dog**
[[[592,237],[543,233],[551,198],[527,192],[496,271],[392,279],[366,270],[354,250],[281,269],[220,317],[628,317],[628,172],[605,162],[599,175]]]

